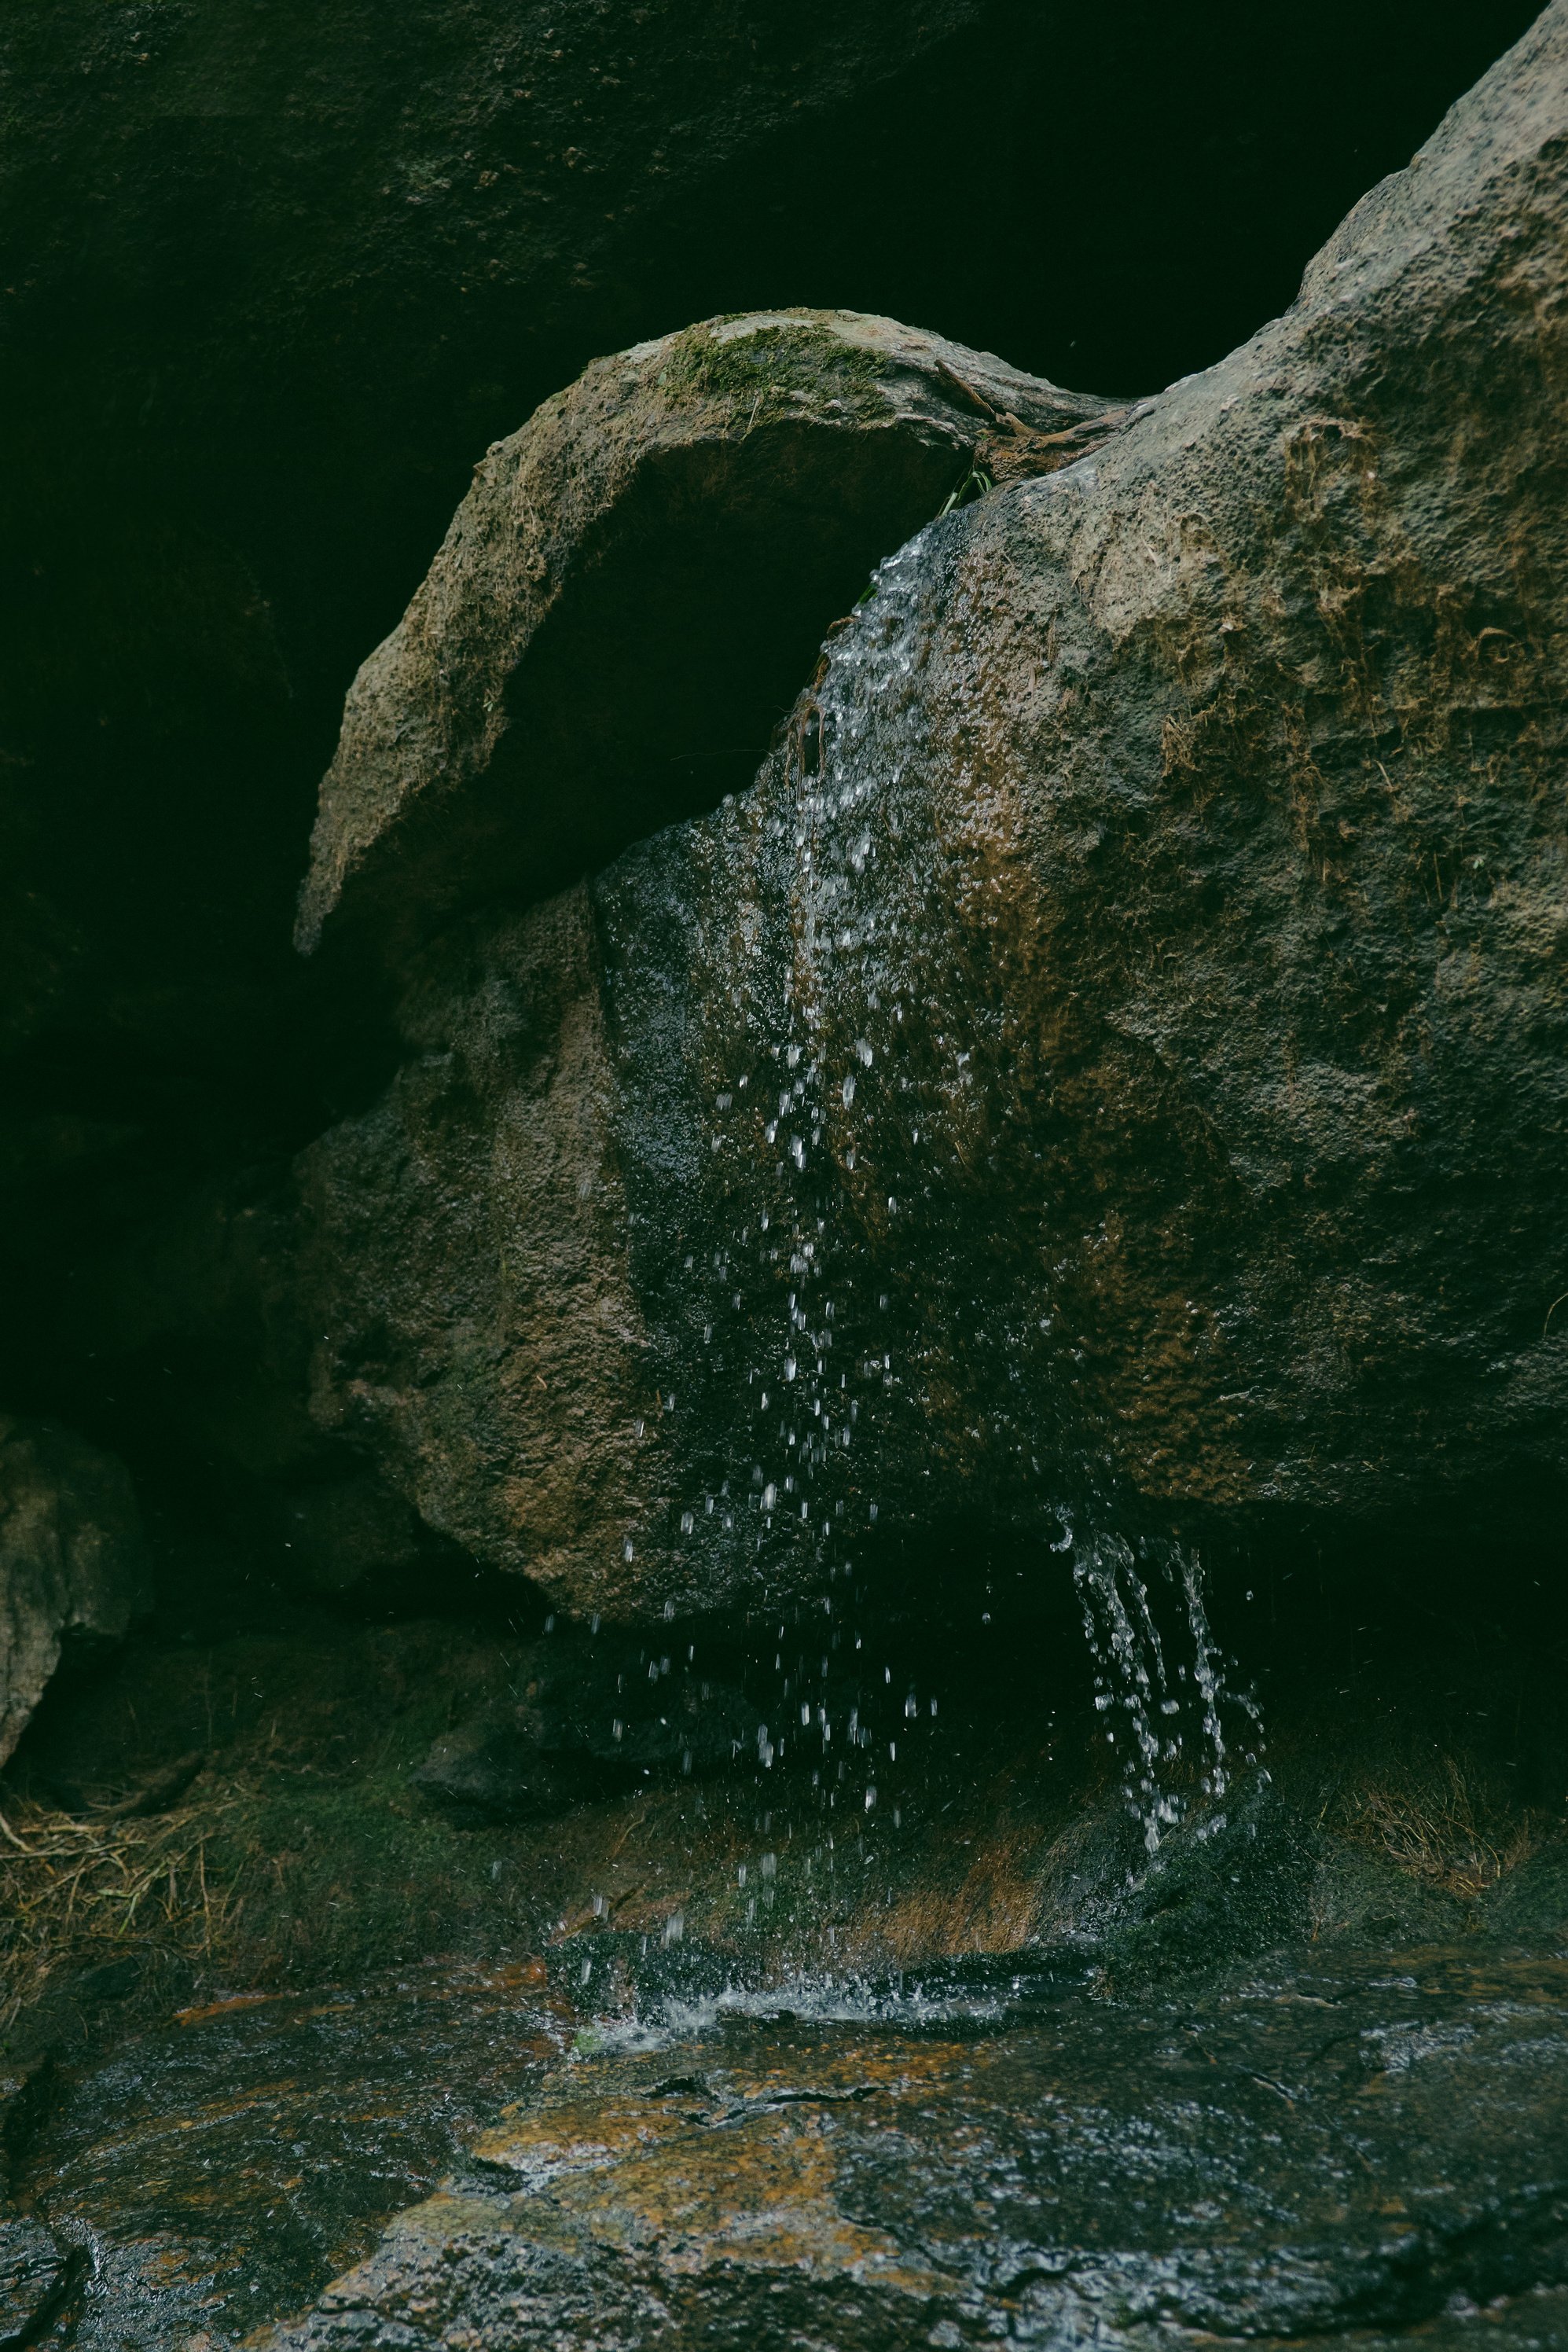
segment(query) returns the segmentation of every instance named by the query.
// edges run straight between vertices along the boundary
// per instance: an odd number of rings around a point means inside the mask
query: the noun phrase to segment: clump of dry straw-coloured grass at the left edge
[[[207,1879],[207,1844],[235,1792],[148,1818],[106,1818],[12,1802],[0,1813],[0,2030],[61,1959],[113,1959],[132,1943],[209,1955],[235,1898]]]

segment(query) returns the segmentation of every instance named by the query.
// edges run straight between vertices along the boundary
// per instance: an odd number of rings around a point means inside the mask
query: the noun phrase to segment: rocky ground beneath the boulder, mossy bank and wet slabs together
[[[842,1778],[614,1776],[557,1630],[162,1566],[0,1797],[35,2340],[1568,2340],[1544,1599],[1215,1602],[1267,1745],[1150,1856],[1072,1616],[867,1618]],[[773,1625],[682,1635],[778,1719]]]

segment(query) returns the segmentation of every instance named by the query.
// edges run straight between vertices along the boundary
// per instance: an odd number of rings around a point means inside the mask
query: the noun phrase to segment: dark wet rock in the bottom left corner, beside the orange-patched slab
[[[66,2298],[61,2340],[230,2343],[308,2296],[433,2185],[465,2136],[559,2046],[543,1971],[423,1966],[310,1994],[216,1994],[94,2063],[63,2053],[19,2136],[38,2220],[28,2293]],[[555,2039],[552,2039],[555,2034]],[[21,2291],[21,2288],[19,2288]]]

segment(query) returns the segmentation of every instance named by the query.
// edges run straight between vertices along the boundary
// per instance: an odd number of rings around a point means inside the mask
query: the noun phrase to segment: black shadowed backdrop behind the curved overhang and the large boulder
[[[1114,75],[1023,0],[5,14],[0,1395],[134,1449],[63,1277],[364,1098],[289,910],[343,691],[487,442],[769,303],[1107,386],[1213,358],[1530,9],[1326,5],[1302,54],[1135,0]]]

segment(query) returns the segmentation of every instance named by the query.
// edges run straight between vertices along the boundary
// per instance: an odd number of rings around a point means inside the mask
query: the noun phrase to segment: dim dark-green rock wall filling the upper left
[[[0,26],[5,1392],[96,1418],[92,1369],[40,1378],[61,1270],[341,1101],[289,906],[475,447],[731,299],[689,216],[898,111],[978,5]]]

